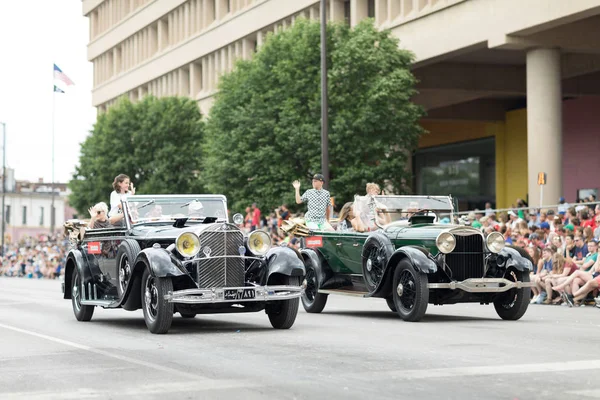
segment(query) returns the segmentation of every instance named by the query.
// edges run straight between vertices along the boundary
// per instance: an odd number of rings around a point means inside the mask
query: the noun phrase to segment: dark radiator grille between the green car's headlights
[[[455,235],[456,247],[446,255],[446,264],[452,271],[452,279],[462,281],[481,278],[485,273],[483,237],[481,235]]]

